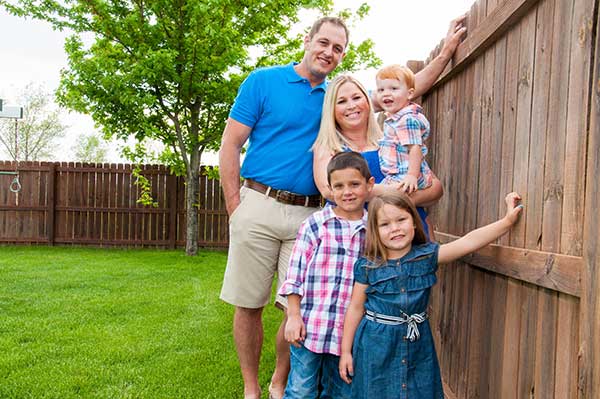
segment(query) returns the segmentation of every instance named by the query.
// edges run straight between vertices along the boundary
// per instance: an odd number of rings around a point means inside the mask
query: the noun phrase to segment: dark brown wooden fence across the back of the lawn
[[[0,162],[0,171],[14,171]],[[0,175],[0,243],[97,246],[185,246],[185,184],[164,166],[144,165],[158,207],[136,203],[132,166],[86,163],[19,163]],[[228,219],[218,180],[200,177],[199,245],[227,247]]]

